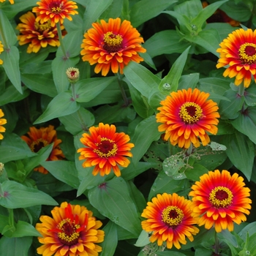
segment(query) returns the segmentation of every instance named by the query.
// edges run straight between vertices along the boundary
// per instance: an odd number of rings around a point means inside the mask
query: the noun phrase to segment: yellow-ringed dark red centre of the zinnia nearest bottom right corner
[[[232,203],[233,193],[227,187],[219,186],[211,190],[209,200],[214,207],[224,208]]]

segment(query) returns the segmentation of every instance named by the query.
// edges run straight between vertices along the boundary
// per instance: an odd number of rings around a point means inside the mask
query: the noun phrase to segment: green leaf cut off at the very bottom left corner
[[[32,244],[32,237],[6,238],[0,239],[0,252],[4,256],[28,256],[29,248]]]

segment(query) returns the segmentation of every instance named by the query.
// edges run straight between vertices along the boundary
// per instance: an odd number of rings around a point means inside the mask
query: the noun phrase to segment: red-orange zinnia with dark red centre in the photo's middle
[[[121,167],[129,165],[129,159],[132,153],[129,152],[134,147],[133,143],[128,143],[129,135],[124,132],[116,132],[116,127],[111,124],[99,124],[99,127],[90,127],[88,133],[83,133],[83,138],[80,142],[86,148],[79,148],[80,160],[86,159],[83,162],[83,167],[95,166],[93,175],[98,173],[101,176],[108,175],[113,169],[116,176],[121,176]]]

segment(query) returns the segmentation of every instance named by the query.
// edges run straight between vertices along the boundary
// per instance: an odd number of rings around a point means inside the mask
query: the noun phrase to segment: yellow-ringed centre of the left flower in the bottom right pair
[[[167,206],[162,211],[162,221],[172,228],[176,228],[184,218],[183,211],[177,206]]]

